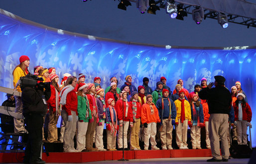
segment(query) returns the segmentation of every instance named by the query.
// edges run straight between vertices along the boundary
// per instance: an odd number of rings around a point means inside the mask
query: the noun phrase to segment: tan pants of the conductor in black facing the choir
[[[209,118],[209,137],[211,141],[211,151],[214,159],[228,159],[229,145],[227,139],[228,131],[228,114],[214,113]],[[221,153],[220,155],[220,139],[221,139]]]

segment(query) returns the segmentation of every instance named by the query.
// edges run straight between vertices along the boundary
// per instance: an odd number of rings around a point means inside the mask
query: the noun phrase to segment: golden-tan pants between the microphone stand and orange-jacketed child
[[[135,148],[140,149],[138,141],[139,126],[140,118],[136,118],[133,127],[130,128],[130,150]]]

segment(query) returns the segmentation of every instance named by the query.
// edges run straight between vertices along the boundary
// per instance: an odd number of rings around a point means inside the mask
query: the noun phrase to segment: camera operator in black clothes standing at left
[[[26,77],[31,78],[31,74]],[[34,76],[34,75],[33,75]],[[47,111],[47,100],[51,96],[50,83],[36,85],[21,85],[23,115],[25,128],[28,131],[28,141],[25,149],[24,163],[44,164],[40,159],[42,145],[43,116]]]

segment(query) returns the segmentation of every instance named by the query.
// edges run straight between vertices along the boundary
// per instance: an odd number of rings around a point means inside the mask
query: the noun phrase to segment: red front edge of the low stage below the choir
[[[46,163],[86,163],[97,161],[114,161],[123,158],[122,151],[46,153],[42,160]],[[0,153],[0,163],[22,163],[24,153]],[[187,158],[211,157],[210,149],[201,150],[141,150],[125,151],[125,159]]]

